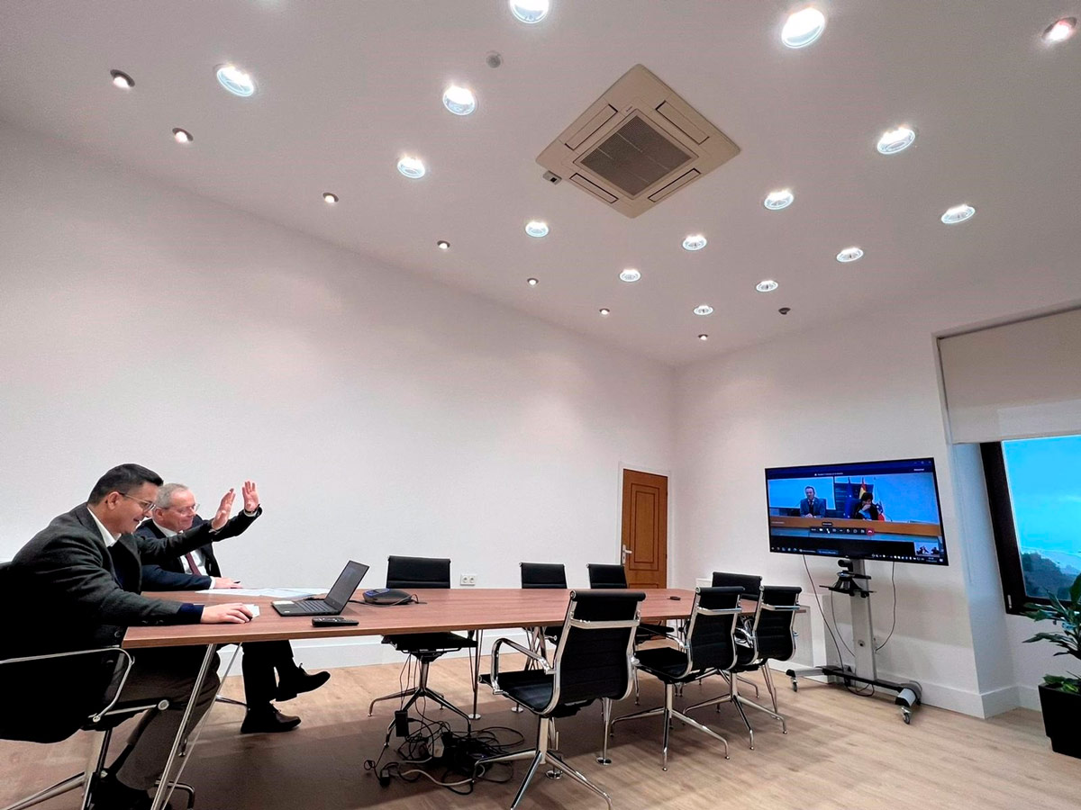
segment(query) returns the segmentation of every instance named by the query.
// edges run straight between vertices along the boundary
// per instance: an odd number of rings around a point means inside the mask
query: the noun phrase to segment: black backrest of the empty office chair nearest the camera
[[[560,705],[627,697],[638,606],[644,598],[640,591],[571,592],[552,662]],[[618,622],[620,626],[590,626],[590,622]]]

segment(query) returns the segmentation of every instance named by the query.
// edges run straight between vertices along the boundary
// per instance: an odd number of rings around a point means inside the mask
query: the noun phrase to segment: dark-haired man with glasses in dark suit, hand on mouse
[[[4,635],[5,656],[19,657],[117,646],[131,625],[242,623],[252,615],[244,605],[192,605],[150,599],[141,594],[142,564],[183,555],[209,542],[240,534],[259,513],[255,485],[243,486],[244,514],[229,519],[233,490],[226,492],[214,517],[190,531],[165,539],[133,532],[154,509],[161,477],[138,464],[109,470],[90,497],[53,518],[24,545],[8,572],[12,605],[32,605]],[[202,663],[200,647],[138,650],[124,684],[124,700],[168,699],[165,711],[147,712],[132,732],[124,753],[110,766],[96,797],[99,810],[139,810],[150,806],[147,793],[164,768],[173,739]],[[63,681],[99,680],[96,669],[71,663]],[[103,687],[108,684],[105,680]],[[62,684],[63,685],[63,684]],[[195,698],[190,730],[210,708],[217,691],[214,669]],[[50,706],[37,707],[43,723]],[[122,764],[120,764],[122,762]]]

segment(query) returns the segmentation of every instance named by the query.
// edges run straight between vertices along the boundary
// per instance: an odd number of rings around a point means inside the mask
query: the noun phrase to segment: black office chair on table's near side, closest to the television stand
[[[703,706],[717,705],[724,702],[732,703],[744,725],[747,726],[747,733],[750,739],[750,747],[755,747],[755,729],[751,728],[750,720],[744,706],[757,708],[764,712],[776,720],[780,720],[782,733],[788,733],[788,724],[780,716],[777,708],[777,689],[773,685],[773,675],[770,672],[769,662],[787,661],[796,652],[796,634],[792,632],[792,622],[796,613],[800,609],[800,592],[802,589],[783,585],[763,585],[759,595],[758,607],[755,609],[755,619],[749,629],[736,629],[736,654],[735,666],[732,667],[729,679],[729,693],[720,698],[696,703],[688,706],[684,711],[692,712]],[[765,679],[765,688],[770,692],[773,702],[773,710],[748,700],[739,694],[739,677],[742,672],[752,672],[760,670]]]

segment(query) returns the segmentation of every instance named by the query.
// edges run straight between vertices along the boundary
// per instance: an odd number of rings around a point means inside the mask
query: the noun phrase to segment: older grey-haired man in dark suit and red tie
[[[199,504],[190,489],[183,484],[165,484],[158,489],[150,518],[144,521],[135,534],[161,539],[187,531],[204,523],[197,513],[198,509]],[[222,576],[210,543],[182,556],[143,566],[143,588],[147,591],[202,591],[238,586],[239,582]],[[297,666],[293,660],[293,648],[286,640],[245,644],[241,663],[248,703],[248,714],[240,726],[243,734],[296,728],[301,718],[282,714],[270,701],[290,700],[301,692],[310,692],[330,678],[330,673],[309,674]]]

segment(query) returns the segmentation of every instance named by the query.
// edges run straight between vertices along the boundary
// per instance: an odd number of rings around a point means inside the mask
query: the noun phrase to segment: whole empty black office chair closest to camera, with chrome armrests
[[[533,748],[478,759],[473,773],[480,773],[494,762],[532,759],[522,780],[511,810],[525,795],[525,788],[537,769],[555,761],[559,770],[600,795],[609,808],[612,799],[604,791],[563,759],[551,743],[552,720],[569,717],[596,700],[611,705],[630,693],[631,656],[635,630],[638,627],[639,603],[645,594],[635,591],[604,593],[572,591],[556,653],[549,663],[544,656],[508,638],[501,638],[492,648],[492,691],[510,698],[537,716],[537,742]],[[504,645],[521,652],[536,666],[520,672],[499,672],[499,654]],[[605,712],[604,750],[608,754],[609,720]]]

